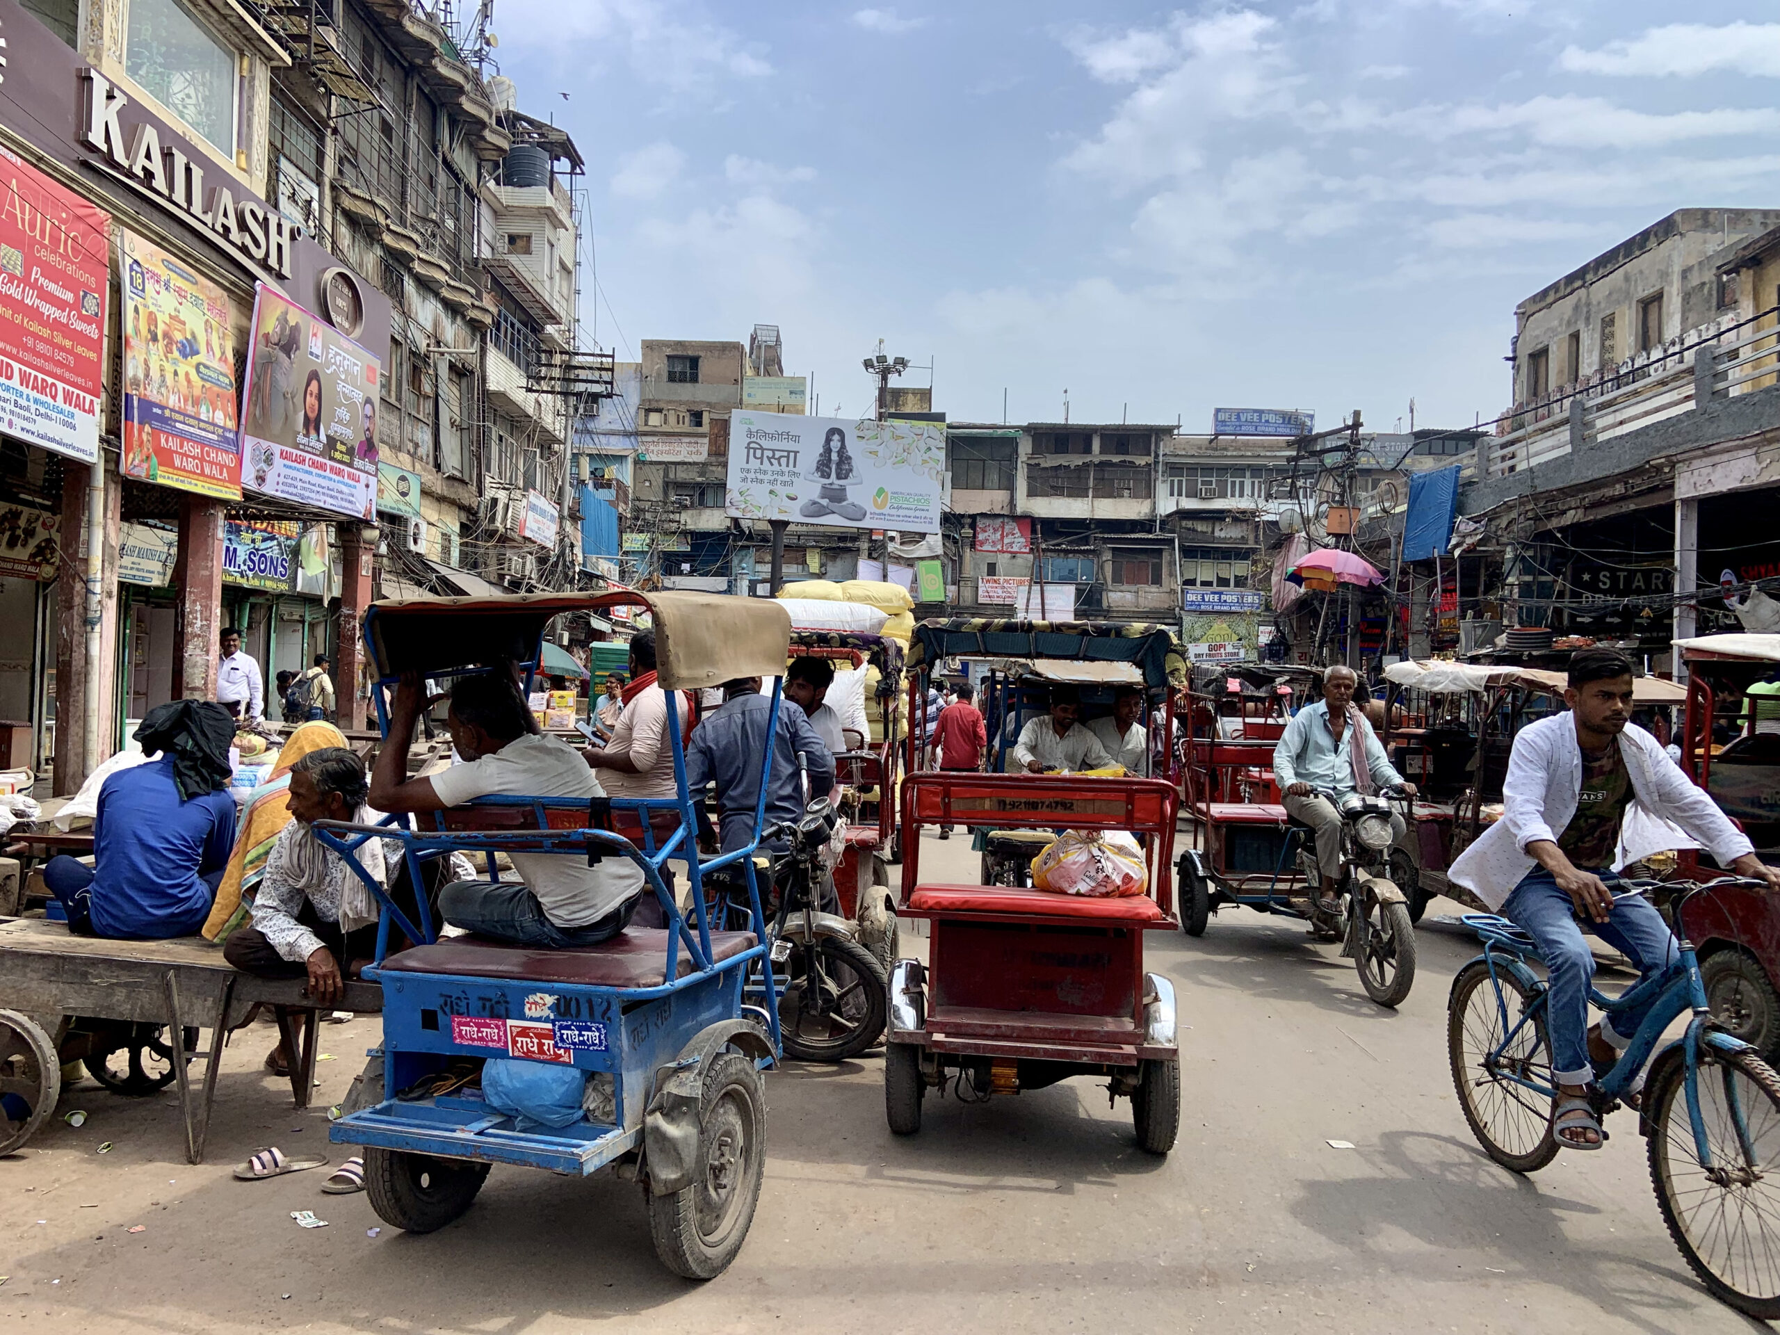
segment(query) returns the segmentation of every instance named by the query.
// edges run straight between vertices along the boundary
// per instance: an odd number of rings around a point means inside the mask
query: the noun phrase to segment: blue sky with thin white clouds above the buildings
[[[1780,205],[1775,14],[495,0],[491,27],[586,158],[582,329],[619,360],[758,322],[824,417],[870,411],[883,340],[954,422],[1006,395],[1399,431],[1412,399],[1417,427],[1502,413],[1549,281],[1675,208]]]

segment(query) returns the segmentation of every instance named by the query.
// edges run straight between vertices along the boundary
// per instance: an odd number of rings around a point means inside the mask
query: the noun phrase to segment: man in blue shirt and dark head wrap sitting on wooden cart
[[[150,710],[135,739],[150,755],[100,789],[93,867],[52,858],[43,881],[69,931],[125,942],[190,936],[205,926],[235,846],[222,705],[176,700]]]

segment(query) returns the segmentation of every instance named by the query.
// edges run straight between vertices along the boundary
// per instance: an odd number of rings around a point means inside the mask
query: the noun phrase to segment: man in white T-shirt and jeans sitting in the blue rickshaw
[[[459,676],[450,689],[452,746],[463,764],[408,778],[408,751],[425,708],[417,673],[390,705],[390,737],[370,774],[370,805],[383,812],[438,812],[477,797],[603,797],[580,751],[543,737],[511,669]],[[440,917],[454,927],[513,945],[598,945],[630,926],[643,899],[643,869],[612,854],[589,867],[568,853],[514,853],[522,881],[452,881]]]

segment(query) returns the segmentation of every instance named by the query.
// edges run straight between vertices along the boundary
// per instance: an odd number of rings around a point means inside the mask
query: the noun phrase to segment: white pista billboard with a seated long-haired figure
[[[724,513],[737,518],[938,532],[943,479],[936,422],[730,417]]]

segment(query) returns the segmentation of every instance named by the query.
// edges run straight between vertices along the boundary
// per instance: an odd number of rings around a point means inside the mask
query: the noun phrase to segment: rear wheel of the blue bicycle
[[[1508,972],[1497,970],[1502,1002],[1508,1007],[1508,1025],[1502,1025],[1502,1006],[1490,984],[1490,967],[1472,959],[1452,979],[1447,999],[1447,1059],[1452,1064],[1452,1088],[1458,1105],[1465,1111],[1470,1134],[1495,1162],[1515,1173],[1534,1173],[1558,1153],[1558,1136],[1552,1129],[1558,1100],[1540,1095],[1509,1077],[1556,1088],[1552,1084],[1552,1048],[1545,1034],[1543,1009],[1520,1025],[1515,1041],[1502,1048],[1502,1040],[1520,1024],[1527,1009],[1527,991]],[[1497,1050],[1501,1050],[1499,1056]]]

